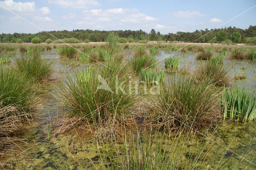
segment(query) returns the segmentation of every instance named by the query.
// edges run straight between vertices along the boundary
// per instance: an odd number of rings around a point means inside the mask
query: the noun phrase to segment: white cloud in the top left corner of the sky
[[[35,12],[35,2],[14,2],[13,0],[0,1],[0,5],[12,12]]]

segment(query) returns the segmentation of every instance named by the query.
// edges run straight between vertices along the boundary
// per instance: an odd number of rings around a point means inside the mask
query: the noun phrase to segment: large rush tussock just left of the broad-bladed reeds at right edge
[[[149,117],[154,127],[171,132],[209,128],[218,122],[219,95],[207,80],[176,76],[152,98]]]

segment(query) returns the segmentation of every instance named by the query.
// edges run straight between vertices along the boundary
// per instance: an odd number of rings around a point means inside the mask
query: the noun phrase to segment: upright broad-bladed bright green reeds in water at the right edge
[[[249,122],[256,118],[256,95],[251,98],[249,90],[244,87],[226,88],[221,96],[223,119]]]

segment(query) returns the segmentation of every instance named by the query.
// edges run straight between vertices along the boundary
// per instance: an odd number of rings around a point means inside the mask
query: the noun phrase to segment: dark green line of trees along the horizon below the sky
[[[62,30],[62,31],[49,31],[50,34],[58,39],[64,38],[77,38],[80,42],[104,42],[110,32],[114,32],[122,41],[125,42],[138,42],[139,40],[150,41],[168,41],[168,42],[222,42],[225,40],[232,40],[234,43],[245,43],[246,38],[256,36],[256,26],[249,26],[249,28],[243,30],[236,27],[219,28],[208,30],[196,30],[194,32],[176,32],[168,34],[160,34],[152,29],[149,33],[143,30],[113,30],[113,31],[100,31],[100,30]],[[45,42],[47,39],[56,40],[53,36],[46,32],[38,32],[36,34],[0,34],[1,43],[21,43],[31,42],[33,38],[39,38],[41,42]]]

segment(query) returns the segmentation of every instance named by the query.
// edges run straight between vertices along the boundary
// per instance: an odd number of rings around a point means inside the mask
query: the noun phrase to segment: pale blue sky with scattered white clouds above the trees
[[[0,33],[155,29],[167,34],[222,24],[246,29],[256,25],[255,5],[256,0],[0,0]]]

